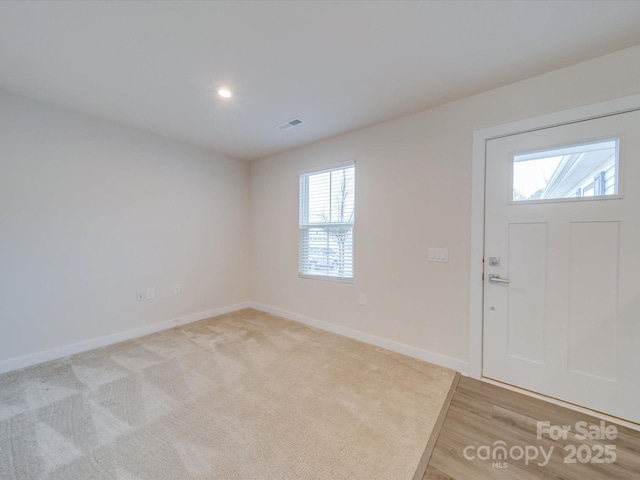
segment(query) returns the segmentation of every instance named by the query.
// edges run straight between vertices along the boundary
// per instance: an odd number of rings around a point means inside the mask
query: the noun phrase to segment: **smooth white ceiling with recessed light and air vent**
[[[5,0],[0,88],[252,160],[638,45],[638,25],[640,1]]]

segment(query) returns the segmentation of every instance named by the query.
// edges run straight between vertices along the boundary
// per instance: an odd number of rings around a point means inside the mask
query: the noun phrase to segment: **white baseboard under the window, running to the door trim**
[[[271,313],[273,315],[278,315],[279,317],[287,318],[295,322],[304,323],[305,325],[316,327],[321,330],[337,333],[338,335],[343,335],[345,337],[353,338],[354,340],[359,340],[361,342],[369,343],[377,347],[386,348],[387,350],[401,353],[403,355],[417,358],[419,360],[424,360],[425,362],[433,363],[435,365],[440,365],[441,367],[450,368],[452,370],[461,372],[463,375],[469,374],[468,362],[464,362],[456,358],[448,357],[440,353],[434,353],[428,350],[422,350],[420,348],[412,347],[410,345],[405,345],[404,343],[394,342],[393,340],[377,337],[375,335],[363,333],[358,330],[352,330],[350,328],[341,327],[340,325],[335,325],[333,323],[325,322],[323,320],[316,320],[314,318],[306,317],[304,315],[299,315],[297,313],[292,313],[286,310],[281,310],[279,308],[271,307],[269,305],[264,305],[262,303],[251,302],[251,308],[255,308],[256,310],[261,310],[263,312]]]

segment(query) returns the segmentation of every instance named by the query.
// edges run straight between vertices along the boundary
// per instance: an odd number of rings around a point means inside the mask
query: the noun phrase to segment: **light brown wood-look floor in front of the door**
[[[571,430],[566,439],[553,440],[548,432],[542,432],[538,438],[538,422],[549,422],[550,427],[568,425]],[[582,428],[597,428],[593,436],[601,437],[600,422],[580,412],[461,377],[422,478],[640,479],[640,432],[616,425],[615,439],[576,438],[580,434],[576,429]],[[606,426],[609,425],[613,424],[607,422]],[[554,429],[552,433],[555,432]],[[609,427],[609,436],[613,435]],[[495,443],[500,441],[503,443]],[[496,448],[499,446],[506,447],[504,460],[484,459],[503,452]],[[548,463],[541,448],[549,458]],[[521,452],[524,457],[518,459]],[[537,458],[533,459],[534,455]],[[613,455],[615,461],[611,461]],[[566,463],[566,459],[575,459],[576,463]]]

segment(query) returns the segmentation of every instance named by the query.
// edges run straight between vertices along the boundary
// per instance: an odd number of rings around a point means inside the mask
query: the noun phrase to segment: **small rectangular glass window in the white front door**
[[[618,139],[513,157],[513,201],[618,194]]]

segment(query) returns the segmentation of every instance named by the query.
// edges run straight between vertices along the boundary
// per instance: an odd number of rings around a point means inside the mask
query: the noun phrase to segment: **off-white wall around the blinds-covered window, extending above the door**
[[[473,131],[638,92],[640,46],[254,162],[252,300],[466,371]],[[349,159],[355,281],[299,278],[298,171]]]

